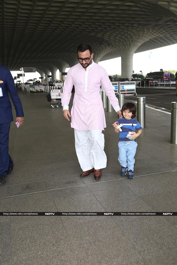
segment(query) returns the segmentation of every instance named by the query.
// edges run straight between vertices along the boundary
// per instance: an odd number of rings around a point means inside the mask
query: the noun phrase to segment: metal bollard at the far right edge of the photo
[[[171,144],[177,144],[177,102],[171,102]]]

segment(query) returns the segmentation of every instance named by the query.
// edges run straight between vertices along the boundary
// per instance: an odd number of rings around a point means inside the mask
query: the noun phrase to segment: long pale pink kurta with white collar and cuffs
[[[63,109],[68,109],[73,85],[75,95],[71,109],[71,127],[76,130],[104,130],[106,120],[100,95],[101,85],[115,111],[120,110],[106,70],[93,61],[86,71],[80,63],[71,67],[63,86]]]

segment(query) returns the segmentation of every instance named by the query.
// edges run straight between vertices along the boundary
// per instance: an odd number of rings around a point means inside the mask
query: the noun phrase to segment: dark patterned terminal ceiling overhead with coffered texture
[[[72,66],[81,42],[96,62],[128,60],[177,43],[177,0],[4,0],[0,32],[0,64],[10,70]]]

